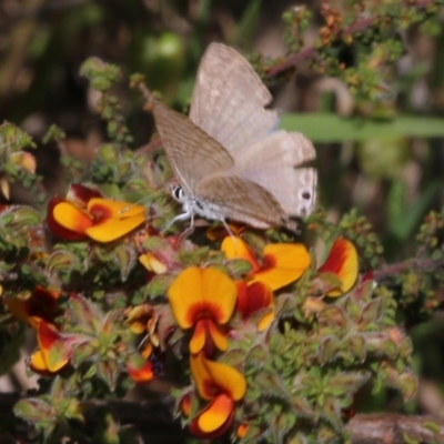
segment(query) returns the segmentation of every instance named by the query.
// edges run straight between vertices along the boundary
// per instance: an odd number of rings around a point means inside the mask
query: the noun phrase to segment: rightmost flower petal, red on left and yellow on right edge
[[[336,274],[342,281],[341,289],[331,290],[329,296],[346,293],[356,282],[359,271],[357,252],[353,243],[342,238],[337,239],[329,258],[317,271]]]

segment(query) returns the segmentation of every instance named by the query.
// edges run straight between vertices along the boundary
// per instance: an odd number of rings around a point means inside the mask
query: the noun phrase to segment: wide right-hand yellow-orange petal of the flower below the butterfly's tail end
[[[250,281],[274,291],[300,279],[309,266],[310,254],[301,243],[273,243],[264,248],[263,265]]]

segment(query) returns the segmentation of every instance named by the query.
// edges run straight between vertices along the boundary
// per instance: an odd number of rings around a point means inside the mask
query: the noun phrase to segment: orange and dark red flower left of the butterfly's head
[[[128,234],[145,220],[144,208],[103,199],[97,190],[73,184],[67,199],[54,198],[48,205],[47,223],[61,239],[111,242]]]

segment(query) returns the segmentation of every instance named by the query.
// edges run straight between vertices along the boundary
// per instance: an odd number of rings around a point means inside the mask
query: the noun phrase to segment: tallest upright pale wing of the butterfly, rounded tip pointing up
[[[211,43],[199,65],[190,119],[235,158],[278,125],[276,111],[264,109],[271,98],[239,52]]]

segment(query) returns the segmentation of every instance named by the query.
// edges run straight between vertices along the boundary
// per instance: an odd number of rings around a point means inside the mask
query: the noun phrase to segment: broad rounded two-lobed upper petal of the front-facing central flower
[[[236,287],[226,274],[212,266],[192,266],[175,278],[168,299],[182,329],[190,329],[202,317],[225,324],[234,311]]]

